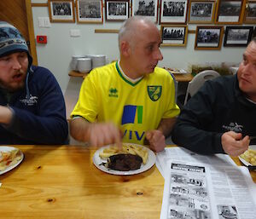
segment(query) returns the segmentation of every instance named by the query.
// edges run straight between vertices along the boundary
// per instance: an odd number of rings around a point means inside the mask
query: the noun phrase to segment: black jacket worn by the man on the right
[[[221,136],[230,130],[256,135],[256,104],[242,94],[236,75],[209,80],[199,89],[177,118],[172,141],[196,153],[224,153]]]

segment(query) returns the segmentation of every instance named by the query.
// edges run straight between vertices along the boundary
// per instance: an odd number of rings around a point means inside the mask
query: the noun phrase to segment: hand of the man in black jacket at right
[[[221,136],[221,144],[225,153],[230,156],[238,156],[248,149],[250,139],[249,136],[242,138],[241,133],[229,131]]]

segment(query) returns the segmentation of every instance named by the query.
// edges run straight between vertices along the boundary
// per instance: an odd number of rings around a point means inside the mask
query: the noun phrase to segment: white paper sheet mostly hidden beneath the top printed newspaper
[[[233,165],[236,163],[229,155],[226,154],[216,154],[211,156],[200,155],[198,153],[193,153],[183,147],[166,147],[164,151],[157,153],[156,155],[156,166],[160,170],[161,175],[165,178],[165,168],[166,163],[169,159],[175,161],[186,161],[195,162],[201,164],[218,164],[218,165]],[[256,217],[255,217],[256,218]]]

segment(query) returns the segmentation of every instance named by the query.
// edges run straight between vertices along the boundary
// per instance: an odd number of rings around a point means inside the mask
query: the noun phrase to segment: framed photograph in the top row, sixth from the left
[[[213,23],[215,14],[215,1],[191,0],[189,2],[189,23]]]

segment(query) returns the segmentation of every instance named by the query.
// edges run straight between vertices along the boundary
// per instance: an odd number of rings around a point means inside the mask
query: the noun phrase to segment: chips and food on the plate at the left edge
[[[7,169],[9,166],[17,164],[21,159],[19,149],[14,149],[7,152],[0,152],[0,171]]]

